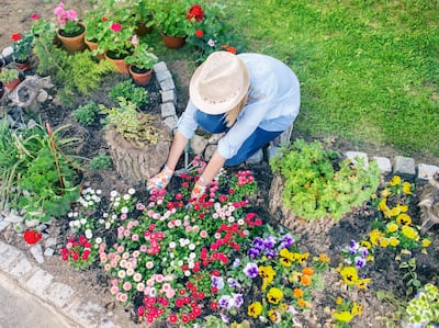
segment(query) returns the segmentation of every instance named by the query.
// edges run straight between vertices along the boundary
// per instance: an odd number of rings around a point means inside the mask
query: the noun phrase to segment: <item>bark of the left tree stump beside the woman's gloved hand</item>
[[[161,137],[156,145],[139,146],[137,143],[123,138],[114,127],[110,127],[105,139],[110,148],[116,172],[130,185],[136,185],[153,177],[165,165],[170,148],[170,132],[159,123]]]

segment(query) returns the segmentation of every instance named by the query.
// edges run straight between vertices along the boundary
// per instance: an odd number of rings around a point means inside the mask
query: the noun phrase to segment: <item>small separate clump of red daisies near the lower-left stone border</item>
[[[61,249],[63,261],[68,261],[76,270],[89,267],[93,263],[94,257],[92,244],[83,236],[68,238],[66,247]]]

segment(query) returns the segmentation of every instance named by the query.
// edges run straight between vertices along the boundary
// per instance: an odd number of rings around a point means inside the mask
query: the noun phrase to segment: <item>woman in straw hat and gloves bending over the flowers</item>
[[[165,189],[198,126],[221,134],[218,146],[196,180],[191,197],[200,199],[224,167],[236,166],[285,131],[299,114],[295,73],[261,54],[216,52],[195,70],[190,100],[178,122],[164,169],[147,181],[147,191]]]

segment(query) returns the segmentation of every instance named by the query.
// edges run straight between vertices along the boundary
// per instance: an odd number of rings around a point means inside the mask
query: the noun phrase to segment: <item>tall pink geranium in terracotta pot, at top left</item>
[[[81,52],[86,48],[86,26],[79,22],[76,10],[66,10],[64,2],[59,1],[54,14],[59,23],[57,36],[69,53]]]

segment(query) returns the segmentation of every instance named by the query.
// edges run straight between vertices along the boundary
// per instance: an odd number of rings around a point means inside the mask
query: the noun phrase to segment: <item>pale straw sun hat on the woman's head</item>
[[[193,73],[189,95],[200,111],[223,114],[241,101],[249,84],[246,64],[232,53],[216,52]]]

